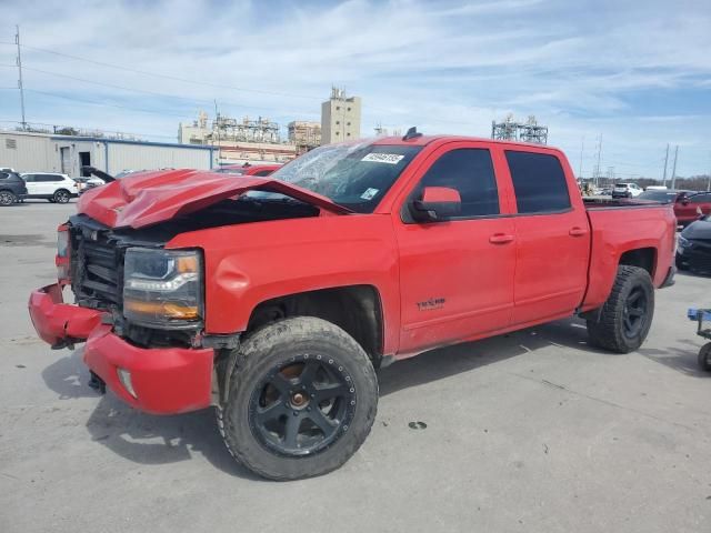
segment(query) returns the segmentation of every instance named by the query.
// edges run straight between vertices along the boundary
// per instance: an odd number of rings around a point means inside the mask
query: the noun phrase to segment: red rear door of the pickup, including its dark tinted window
[[[504,150],[517,202],[513,323],[571,314],[588,286],[590,229],[553,153]]]

